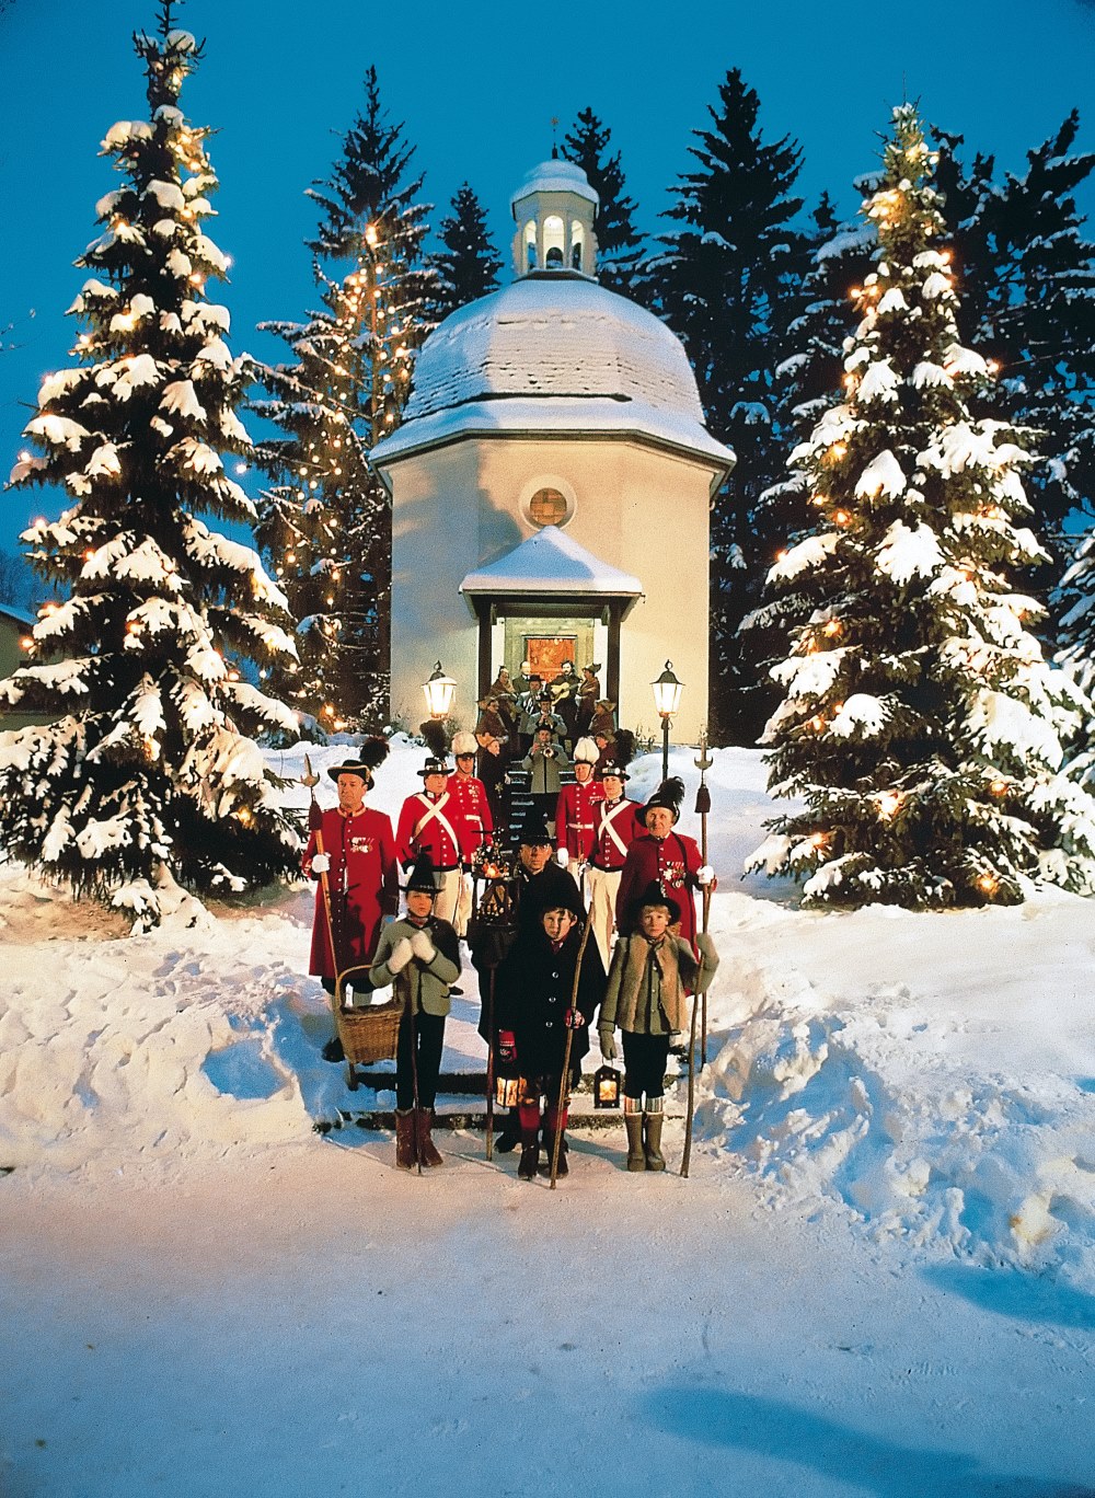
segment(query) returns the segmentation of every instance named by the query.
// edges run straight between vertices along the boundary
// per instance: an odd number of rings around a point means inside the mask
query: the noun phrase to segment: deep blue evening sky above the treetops
[[[153,0],[0,0],[0,204],[6,214],[0,327],[0,472],[7,473],[40,376],[67,361],[75,324],[63,316],[82,276],[72,259],[94,234],[94,202],[114,186],[97,156],[120,118],[141,117],[142,76],[130,33],[153,28]],[[851,180],[870,168],[890,109],[908,96],[924,115],[992,150],[1022,172],[1074,105],[1080,147],[1095,150],[1092,0],[954,0],[870,9],[785,0],[682,0],[655,6],[424,4],[361,0],[187,0],[178,24],[207,39],[183,94],[189,117],[214,126],[222,190],[213,237],[232,256],[223,300],[232,348],[273,348],[264,318],[297,318],[310,301],[304,198],[327,175],[337,136],[363,102],[370,63],[394,118],[418,142],[434,219],[472,183],[505,249],[508,199],[550,154],[551,117],[586,105],[613,130],[644,228],[665,187],[688,169],[691,130],[728,67],[741,67],[762,103],[770,139],[795,136],[801,190],[828,187],[855,207]],[[1095,192],[1083,207],[1095,214]],[[30,316],[34,309],[34,316]],[[0,547],[12,548],[43,496],[0,500]]]

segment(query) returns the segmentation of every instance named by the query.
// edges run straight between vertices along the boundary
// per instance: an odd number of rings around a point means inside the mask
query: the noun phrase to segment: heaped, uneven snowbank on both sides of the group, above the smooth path
[[[346,748],[309,752],[324,770]],[[422,753],[397,737],[371,803],[394,815]],[[297,780],[304,749],[270,761]],[[698,833],[692,761],[674,752],[671,768],[688,783],[682,827]],[[643,798],[659,758],[632,768]],[[1053,891],[947,915],[801,911],[794,885],[737,876],[774,810],[759,755],[716,750],[709,783],[722,968],[694,1173],[744,1170],[758,1203],[825,1204],[902,1255],[1058,1264],[1095,1287],[1095,905]],[[319,795],[333,800],[327,777]],[[7,867],[0,1165],[178,1171],[307,1140],[361,1106],[321,1059],[312,899],[267,891],[127,938],[117,915]],[[449,1064],[472,1068],[470,972],[464,989]]]

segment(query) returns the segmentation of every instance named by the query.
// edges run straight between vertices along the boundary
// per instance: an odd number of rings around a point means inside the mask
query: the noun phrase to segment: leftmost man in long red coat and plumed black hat
[[[373,739],[363,746],[360,759],[328,767],[327,773],[339,786],[339,804],[322,812],[304,849],[304,876],[319,882],[309,972],[322,980],[328,993],[334,993],[339,972],[371,962],[383,917],[398,909],[391,821],[365,806],[373,770],[386,755],[386,740]],[[330,921],[321,875],[327,875]],[[355,975],[355,987],[367,986],[363,974]],[[337,1038],[324,1055],[328,1052],[328,1059],[342,1061]]]

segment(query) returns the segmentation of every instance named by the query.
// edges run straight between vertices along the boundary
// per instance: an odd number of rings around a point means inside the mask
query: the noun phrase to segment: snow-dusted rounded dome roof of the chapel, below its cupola
[[[544,410],[619,401],[622,427],[631,403],[704,419],[676,334],[646,307],[568,271],[532,273],[451,313],[418,355],[404,422],[511,400]]]

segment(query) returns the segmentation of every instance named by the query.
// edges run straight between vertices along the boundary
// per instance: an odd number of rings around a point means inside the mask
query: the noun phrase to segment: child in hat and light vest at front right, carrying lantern
[[[697,945],[674,930],[682,908],[656,881],[632,900],[608,971],[598,1020],[601,1055],[616,1059],[616,1031],[623,1038],[623,1124],[628,1170],[665,1170],[662,1121],[670,1043],[689,1026],[688,995],[703,992],[719,965],[707,932]]]

